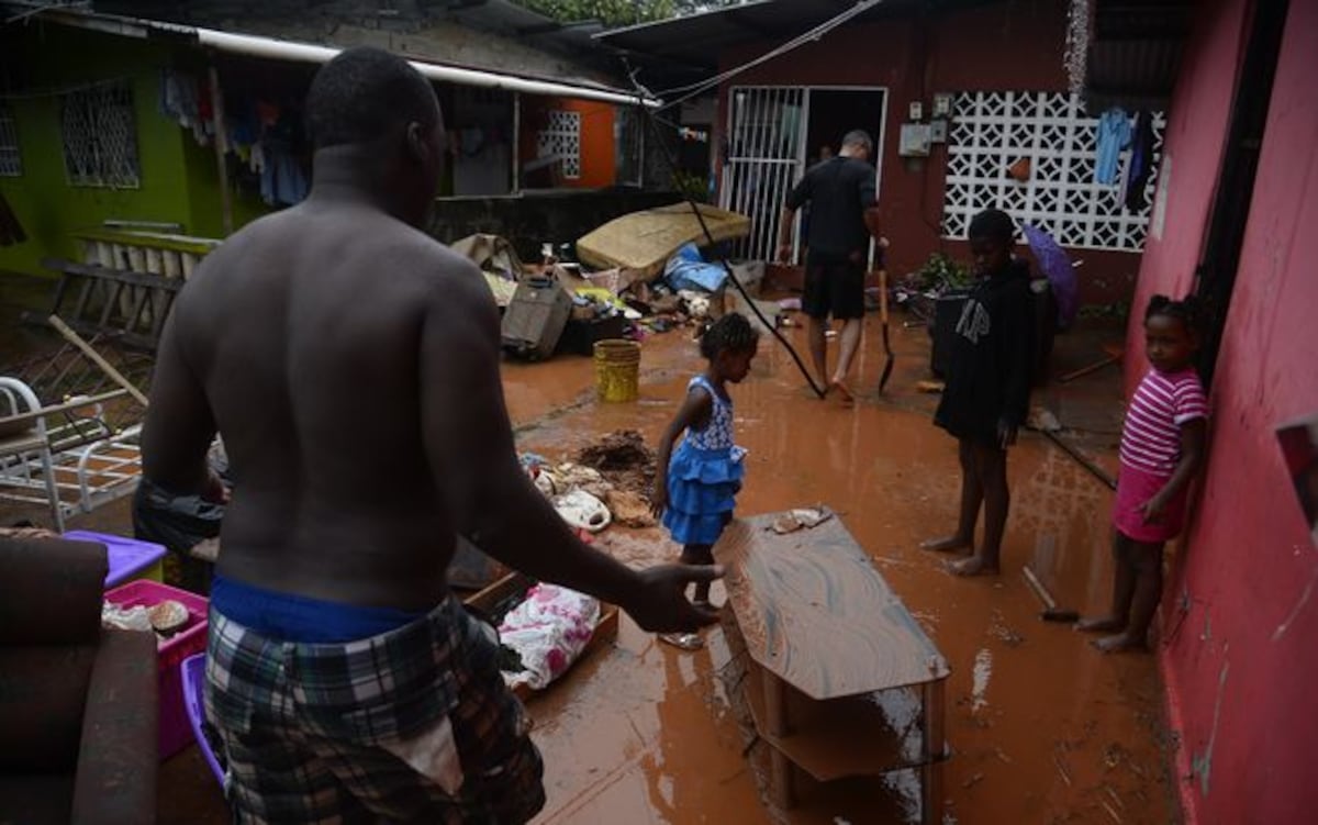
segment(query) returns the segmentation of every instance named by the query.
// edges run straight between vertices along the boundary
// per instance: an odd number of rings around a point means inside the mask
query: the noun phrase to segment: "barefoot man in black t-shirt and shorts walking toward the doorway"
[[[796,211],[809,204],[801,310],[811,319],[811,356],[820,385],[837,390],[847,402],[853,395],[846,376],[861,343],[865,316],[865,260],[870,237],[879,237],[874,167],[866,162],[873,148],[865,132],[847,132],[837,157],[813,166],[791,191],[779,223],[778,258],[786,264],[792,253]],[[844,322],[841,352],[832,377],[828,373],[829,316]]]

